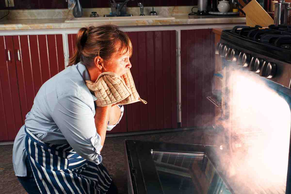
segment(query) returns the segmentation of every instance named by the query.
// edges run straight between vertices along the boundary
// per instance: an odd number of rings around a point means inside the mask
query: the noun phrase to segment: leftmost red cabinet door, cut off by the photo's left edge
[[[0,36],[0,111],[0,141],[13,140],[23,122],[12,36]]]

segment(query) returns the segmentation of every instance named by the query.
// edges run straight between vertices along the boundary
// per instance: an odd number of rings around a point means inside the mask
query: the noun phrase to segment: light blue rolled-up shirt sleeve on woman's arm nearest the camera
[[[81,97],[80,97],[81,98]],[[77,154],[99,164],[101,137],[92,109],[74,95],[63,95],[53,110],[53,120]]]

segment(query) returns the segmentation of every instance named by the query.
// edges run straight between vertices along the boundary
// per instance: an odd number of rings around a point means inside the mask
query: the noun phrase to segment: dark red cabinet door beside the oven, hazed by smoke
[[[211,126],[214,105],[208,101],[214,74],[212,29],[181,30],[182,127]]]

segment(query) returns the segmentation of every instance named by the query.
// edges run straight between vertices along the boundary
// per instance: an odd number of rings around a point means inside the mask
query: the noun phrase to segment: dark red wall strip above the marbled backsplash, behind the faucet
[[[116,0],[123,2],[124,0]],[[108,0],[80,0],[83,8],[106,8]],[[196,6],[197,0],[132,0],[127,3],[128,7],[136,7],[141,2],[144,6]],[[14,7],[10,9],[63,9],[68,8],[65,0],[14,0]],[[5,7],[5,0],[0,0],[0,9]]]

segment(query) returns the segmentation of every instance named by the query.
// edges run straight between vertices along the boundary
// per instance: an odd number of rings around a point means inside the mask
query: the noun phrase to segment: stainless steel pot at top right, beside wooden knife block
[[[280,0],[279,3],[275,3],[274,24],[287,25],[290,19],[291,3],[285,3],[285,0]]]

